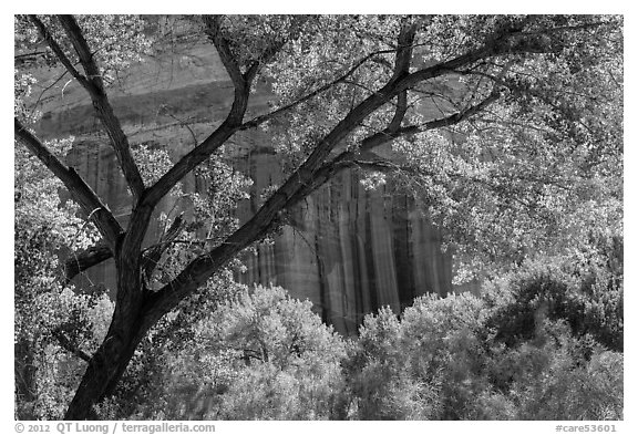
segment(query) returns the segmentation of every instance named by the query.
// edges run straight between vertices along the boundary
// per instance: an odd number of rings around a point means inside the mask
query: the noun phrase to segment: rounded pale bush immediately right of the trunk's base
[[[336,412],[343,342],[311,312],[310,302],[280,288],[244,289],[209,315],[188,321],[188,344],[183,335],[169,335],[181,344],[162,345],[153,335],[154,365],[133,369],[128,382],[137,389],[124,393],[125,403],[138,406],[106,405],[102,412],[112,414],[105,416],[315,420]]]

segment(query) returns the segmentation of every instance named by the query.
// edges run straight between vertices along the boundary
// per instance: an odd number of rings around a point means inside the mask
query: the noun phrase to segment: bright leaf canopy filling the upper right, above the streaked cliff
[[[392,175],[447,234],[459,282],[529,255],[587,256],[587,240],[621,236],[622,22],[617,17],[319,17],[267,73],[276,107],[327,87],[271,124],[291,166],[395,73],[397,33],[416,27],[418,66],[453,60],[515,31],[500,55],[410,89],[388,151],[368,153],[400,110],[384,105],[336,148]],[[544,29],[553,29],[544,31]],[[566,29],[572,31],[563,33]],[[525,35],[532,46],[516,53]],[[352,53],[358,53],[352,55]],[[463,113],[480,108],[473,116]],[[440,120],[459,116],[459,122]],[[383,156],[383,158],[381,157]],[[336,162],[339,158],[336,159]],[[466,265],[466,266],[465,266]]]

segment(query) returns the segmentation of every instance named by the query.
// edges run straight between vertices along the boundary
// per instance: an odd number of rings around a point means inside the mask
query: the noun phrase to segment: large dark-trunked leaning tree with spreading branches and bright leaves
[[[366,170],[370,185],[395,177],[461,244],[487,260],[607,230],[621,217],[622,21],[616,17],[189,17],[234,86],[227,116],[154,177],[145,177],[109,99],[114,71],[148,49],[136,17],[19,17],[17,44],[62,65],[90,96],[115,152],[132,215],[126,227],[63,158],[16,115],[18,142],[66,187],[101,235],[76,252],[69,278],[113,258],[117,288],[106,338],[91,356],[65,418],[90,418],[117,387],[135,349],[181,302],[241,250],[280,225],[285,211],[336,174]],[[27,56],[28,58],[28,56]],[[28,62],[16,58],[16,68]],[[266,79],[271,111],[247,116]],[[22,103],[19,103],[20,105]],[[217,159],[243,131],[263,127],[287,162],[285,180],[243,225],[173,263],[184,222],[167,222],[145,247],[158,203]],[[169,144],[168,144],[169,145]],[[394,156],[388,158],[388,149]],[[233,199],[233,198],[230,198]],[[229,199],[229,200],[230,200]],[[238,199],[237,197],[234,198]],[[231,201],[231,200],[230,200]],[[600,221],[590,211],[603,201]],[[620,207],[620,208],[619,208]],[[620,211],[618,211],[620,210]],[[565,225],[569,231],[563,232]],[[617,228],[614,231],[617,232]],[[609,230],[611,231],[611,230]],[[569,235],[569,237],[566,236]],[[183,252],[179,252],[183,253]]]

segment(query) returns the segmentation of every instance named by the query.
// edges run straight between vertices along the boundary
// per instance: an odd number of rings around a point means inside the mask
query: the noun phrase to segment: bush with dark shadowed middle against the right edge
[[[609,350],[622,351],[622,282],[608,271],[586,275],[559,266],[527,265],[483,288],[492,304],[488,327],[508,346],[536,334],[541,319],[565,321],[575,336],[593,336]]]

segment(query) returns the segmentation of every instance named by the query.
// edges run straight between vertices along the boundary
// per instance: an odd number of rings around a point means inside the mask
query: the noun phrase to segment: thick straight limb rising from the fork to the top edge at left
[[[109,102],[101,71],[93,59],[91,49],[82,33],[82,29],[80,29],[80,25],[78,25],[73,15],[59,15],[59,20],[64,28],[66,35],[71,40],[71,43],[80,58],[80,63],[86,73],[86,77],[81,80],[80,83],[84,89],[86,89],[91,100],[93,101],[93,107],[111,138],[111,144],[115,151],[115,156],[117,157],[124,178],[126,179],[131,193],[133,194],[133,198],[136,201],[144,191],[144,182],[142,180],[140,169],[131,155],[128,137],[124,134],[120,120],[115,116],[113,106]],[[73,74],[73,72],[71,73]]]

